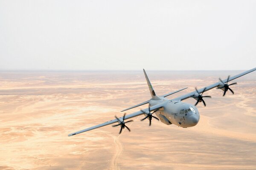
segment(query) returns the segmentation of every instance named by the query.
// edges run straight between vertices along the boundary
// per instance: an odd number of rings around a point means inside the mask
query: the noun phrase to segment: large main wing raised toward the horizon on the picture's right
[[[239,78],[239,77],[241,77],[241,76],[244,76],[245,74],[248,74],[248,73],[250,73],[250,72],[253,72],[253,71],[255,71],[255,70],[256,70],[256,68],[253,68],[253,69],[250,69],[250,70],[248,70],[248,71],[244,71],[243,73],[237,74],[236,76],[232,76],[232,77],[229,78],[229,82],[232,81],[232,80],[234,80],[234,79],[237,79],[237,78]],[[227,82],[227,79],[222,80],[222,82],[226,83],[226,82]],[[205,91],[209,91],[209,90],[211,90],[212,88],[215,88],[215,87],[218,87],[218,86],[223,85],[222,82],[219,81],[219,82],[216,82],[216,83],[214,83],[214,84],[212,84],[212,85],[208,85],[208,86],[204,87],[204,88],[206,88]],[[199,92],[199,93],[202,93],[202,92],[204,91],[204,88],[198,89],[198,92]],[[193,97],[195,94],[197,94],[197,91],[192,91],[191,93],[185,94],[185,95],[183,95],[183,96],[177,97],[177,98],[172,99],[172,100],[182,101],[182,100],[188,99],[188,98],[190,98],[190,97]]]

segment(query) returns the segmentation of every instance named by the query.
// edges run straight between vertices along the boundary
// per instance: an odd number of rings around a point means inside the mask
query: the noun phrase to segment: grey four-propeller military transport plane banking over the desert
[[[117,123],[117,125],[113,125],[113,127],[115,127],[115,126],[120,126],[121,127],[119,133],[121,133],[122,129],[124,129],[125,127],[129,131],[131,131],[129,129],[129,127],[126,126],[126,123],[132,122],[133,120],[129,120],[127,122],[125,122],[125,120],[136,117],[136,116],[140,116],[140,115],[145,116],[143,119],[141,119],[141,121],[143,121],[145,119],[149,120],[149,126],[151,125],[152,118],[154,118],[154,119],[157,119],[158,121],[160,119],[160,121],[163,122],[166,125],[174,124],[174,125],[177,125],[179,127],[184,127],[184,128],[193,127],[193,126],[198,124],[198,121],[199,121],[199,118],[200,118],[198,109],[195,106],[199,102],[203,102],[204,106],[206,106],[206,104],[204,102],[204,97],[211,97],[211,96],[203,96],[205,91],[209,91],[212,88],[217,88],[217,89],[221,89],[221,90],[224,91],[223,96],[225,96],[227,91],[230,91],[232,94],[234,94],[233,90],[230,88],[230,85],[235,85],[236,82],[231,83],[231,84],[228,84],[228,82],[232,81],[233,79],[237,79],[241,76],[244,76],[245,74],[248,74],[248,73],[253,72],[255,70],[256,70],[256,68],[253,68],[251,70],[244,71],[241,74],[237,74],[236,76],[233,76],[233,77],[228,76],[227,79],[224,79],[224,80],[221,80],[219,78],[220,81],[216,82],[212,85],[208,85],[208,86],[206,86],[204,88],[201,88],[201,89],[195,88],[195,91],[192,91],[191,93],[185,94],[183,96],[180,96],[180,97],[177,97],[177,98],[174,98],[174,99],[166,99],[165,98],[166,96],[170,96],[170,95],[175,94],[179,91],[182,91],[186,88],[182,88],[180,90],[177,90],[177,91],[174,91],[174,92],[162,95],[162,96],[157,96],[153,87],[152,87],[152,85],[151,85],[151,83],[150,83],[150,81],[149,81],[149,79],[148,79],[148,76],[147,76],[145,70],[143,69],[144,74],[145,74],[145,78],[146,78],[147,83],[148,83],[148,88],[149,88],[149,91],[150,91],[150,94],[151,94],[151,99],[147,100],[145,102],[142,102],[138,105],[127,108],[125,110],[122,110],[122,111],[127,111],[129,109],[136,108],[138,106],[145,105],[145,104],[148,104],[148,108],[145,108],[143,110],[131,113],[129,115],[124,114],[124,116],[119,117],[119,118],[115,116],[116,119],[110,120],[108,122],[105,122],[105,123],[102,123],[102,124],[99,124],[99,125],[96,125],[96,126],[93,126],[93,127],[86,128],[84,130],[80,130],[80,131],[75,132],[75,133],[70,133],[68,136],[73,136],[73,135],[83,133],[83,132],[86,132],[86,131],[89,131],[89,130],[93,130],[93,129],[96,129],[96,128],[99,128],[99,127],[103,127],[103,126],[106,126],[106,125],[111,125],[113,123]],[[181,101],[183,101],[185,99],[188,99],[190,97],[192,97],[196,100],[195,105],[191,105],[189,103],[181,102]],[[155,113],[155,115],[157,117],[153,116],[153,113]]]

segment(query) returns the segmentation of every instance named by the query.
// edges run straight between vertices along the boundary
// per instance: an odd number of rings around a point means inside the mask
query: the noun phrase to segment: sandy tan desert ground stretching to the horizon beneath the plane
[[[148,71],[156,94],[194,91],[242,71]],[[212,89],[190,128],[134,118],[105,126],[150,98],[143,71],[1,71],[0,170],[255,170],[256,72],[222,97]],[[195,99],[184,102],[195,103]],[[134,108],[126,113],[146,108]]]

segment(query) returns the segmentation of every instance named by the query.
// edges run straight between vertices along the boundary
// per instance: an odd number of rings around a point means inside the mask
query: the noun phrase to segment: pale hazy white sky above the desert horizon
[[[0,0],[0,70],[248,70],[255,0]]]

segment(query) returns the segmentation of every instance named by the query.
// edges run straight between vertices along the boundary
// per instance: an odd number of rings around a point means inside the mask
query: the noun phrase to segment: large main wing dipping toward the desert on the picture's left
[[[166,103],[166,102],[163,102],[163,103],[160,103],[160,104],[158,104],[158,105],[154,105],[154,106],[150,107],[150,111],[154,111],[154,110],[157,110],[157,109],[159,109],[159,108],[163,108],[163,106],[165,105],[165,103]],[[148,111],[148,108],[143,109],[143,111],[144,111],[144,112]],[[128,115],[125,116],[125,120],[126,120],[126,119],[130,119],[130,118],[133,118],[133,117],[136,117],[136,116],[140,116],[140,115],[144,114],[143,111],[137,111],[137,112],[128,114]],[[119,119],[122,119],[122,117],[119,117]],[[105,123],[102,123],[102,124],[99,124],[99,125],[96,125],[96,126],[88,127],[88,128],[86,128],[86,129],[84,129],[84,130],[77,131],[77,132],[75,132],[75,133],[70,133],[68,136],[77,135],[77,134],[79,134],[79,133],[87,132],[87,131],[89,131],[89,130],[93,130],[93,129],[96,129],[96,128],[99,128],[99,127],[103,127],[103,126],[106,126],[106,125],[111,125],[111,124],[116,123],[116,122],[118,122],[118,120],[117,120],[117,119],[113,119],[113,120],[110,120],[110,121],[108,121],[108,122],[105,122]]]

